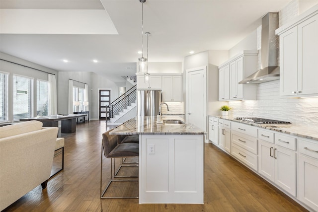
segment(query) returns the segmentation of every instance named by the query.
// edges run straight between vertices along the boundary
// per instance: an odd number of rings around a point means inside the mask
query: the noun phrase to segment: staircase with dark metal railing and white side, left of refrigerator
[[[122,124],[136,116],[136,91],[137,85],[110,103],[110,123],[107,124]]]

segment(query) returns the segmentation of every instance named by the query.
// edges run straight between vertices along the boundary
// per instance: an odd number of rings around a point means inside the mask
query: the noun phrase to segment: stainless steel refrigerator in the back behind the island
[[[157,116],[161,90],[137,90],[137,116]]]

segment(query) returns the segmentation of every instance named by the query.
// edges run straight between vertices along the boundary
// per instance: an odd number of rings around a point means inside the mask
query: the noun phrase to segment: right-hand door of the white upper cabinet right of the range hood
[[[318,15],[298,25],[298,91],[318,93]]]

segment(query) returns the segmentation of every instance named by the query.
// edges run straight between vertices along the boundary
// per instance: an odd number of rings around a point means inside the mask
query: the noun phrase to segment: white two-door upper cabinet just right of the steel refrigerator
[[[182,101],[182,76],[162,76],[162,101]]]

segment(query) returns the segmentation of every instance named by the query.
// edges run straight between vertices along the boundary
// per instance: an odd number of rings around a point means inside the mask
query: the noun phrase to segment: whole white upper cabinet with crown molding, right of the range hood
[[[280,95],[318,96],[318,10],[301,15],[276,34],[280,42]]]

